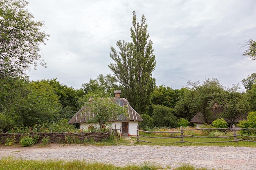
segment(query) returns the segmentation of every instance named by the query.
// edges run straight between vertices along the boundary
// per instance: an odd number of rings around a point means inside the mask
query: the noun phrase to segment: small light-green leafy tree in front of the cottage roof
[[[108,124],[108,120],[112,119],[124,119],[126,113],[124,107],[112,102],[109,98],[93,98],[89,101],[87,106],[90,107],[91,113],[94,117],[90,117],[87,120],[88,123],[99,123],[99,127],[102,129],[103,125]]]

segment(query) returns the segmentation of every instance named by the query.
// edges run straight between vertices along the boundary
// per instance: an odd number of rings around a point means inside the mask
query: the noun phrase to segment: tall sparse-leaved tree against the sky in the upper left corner
[[[49,36],[43,22],[33,20],[25,0],[0,0],[0,77],[17,77],[37,62],[45,66],[40,45]]]

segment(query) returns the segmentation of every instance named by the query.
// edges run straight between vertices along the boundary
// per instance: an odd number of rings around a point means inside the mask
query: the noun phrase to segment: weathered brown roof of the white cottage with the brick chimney
[[[111,99],[112,102],[115,102],[116,104],[119,104],[120,106],[123,106],[127,116],[122,116],[120,115],[118,118],[112,118],[109,121],[143,121],[143,119],[140,117],[140,115],[130,106],[129,102],[125,98],[119,98],[119,97],[114,97]],[[68,121],[68,124],[81,124],[88,122],[90,119],[94,117],[94,114],[91,113],[90,106],[83,106],[76,115]]]

